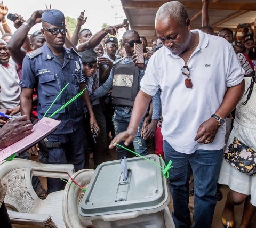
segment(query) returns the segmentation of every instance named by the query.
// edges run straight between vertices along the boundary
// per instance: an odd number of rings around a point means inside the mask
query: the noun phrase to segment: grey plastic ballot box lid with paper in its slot
[[[164,167],[155,154],[145,157]],[[120,160],[104,162],[97,167],[78,208],[80,216],[104,219],[102,215],[115,214],[117,219],[118,214],[126,213],[123,218],[129,218],[155,213],[168,205],[169,190],[161,168],[141,157],[126,161],[126,181]]]

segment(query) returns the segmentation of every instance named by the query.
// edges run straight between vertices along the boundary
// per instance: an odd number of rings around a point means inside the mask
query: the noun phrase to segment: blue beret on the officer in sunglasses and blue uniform
[[[54,26],[64,27],[65,17],[59,10],[46,10],[41,18],[42,21],[48,22]]]

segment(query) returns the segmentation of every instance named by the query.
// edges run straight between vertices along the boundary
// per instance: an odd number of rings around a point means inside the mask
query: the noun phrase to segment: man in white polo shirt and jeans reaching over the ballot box
[[[163,149],[165,161],[172,160],[173,166],[169,181],[175,227],[191,226],[188,181],[193,170],[191,227],[210,228],[225,144],[225,118],[244,92],[244,70],[225,39],[191,31],[187,10],[180,2],[163,4],[155,22],[164,47],[151,56],[129,127],[113,142],[128,145],[132,141],[151,97],[161,88]]]

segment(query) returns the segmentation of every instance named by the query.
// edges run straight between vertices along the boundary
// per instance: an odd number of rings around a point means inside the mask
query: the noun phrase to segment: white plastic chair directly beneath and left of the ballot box
[[[83,188],[87,188],[95,170],[83,169],[76,172],[72,178]],[[78,206],[84,196],[84,191],[71,185],[72,180],[69,179],[64,189],[62,201],[62,215],[67,228],[91,228],[94,227],[91,221],[81,222],[78,214]]]

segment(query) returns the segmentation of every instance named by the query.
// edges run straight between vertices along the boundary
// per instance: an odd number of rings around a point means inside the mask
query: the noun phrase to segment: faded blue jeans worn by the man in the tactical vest
[[[115,107],[115,112],[113,115],[115,135],[118,135],[120,132],[123,132],[127,129],[130,123],[131,116],[132,116],[132,109],[127,113],[125,112],[125,107],[118,106],[118,105]],[[142,124],[143,124],[143,120],[141,121],[140,126],[138,127],[137,134],[132,142],[133,142],[135,152],[143,156],[148,154],[148,147],[146,145],[146,140],[143,139],[143,137],[141,137]],[[121,142],[120,144],[124,145],[124,142]],[[117,146],[116,150],[117,150],[117,159],[121,159],[127,156],[127,151],[125,149],[118,148]]]

